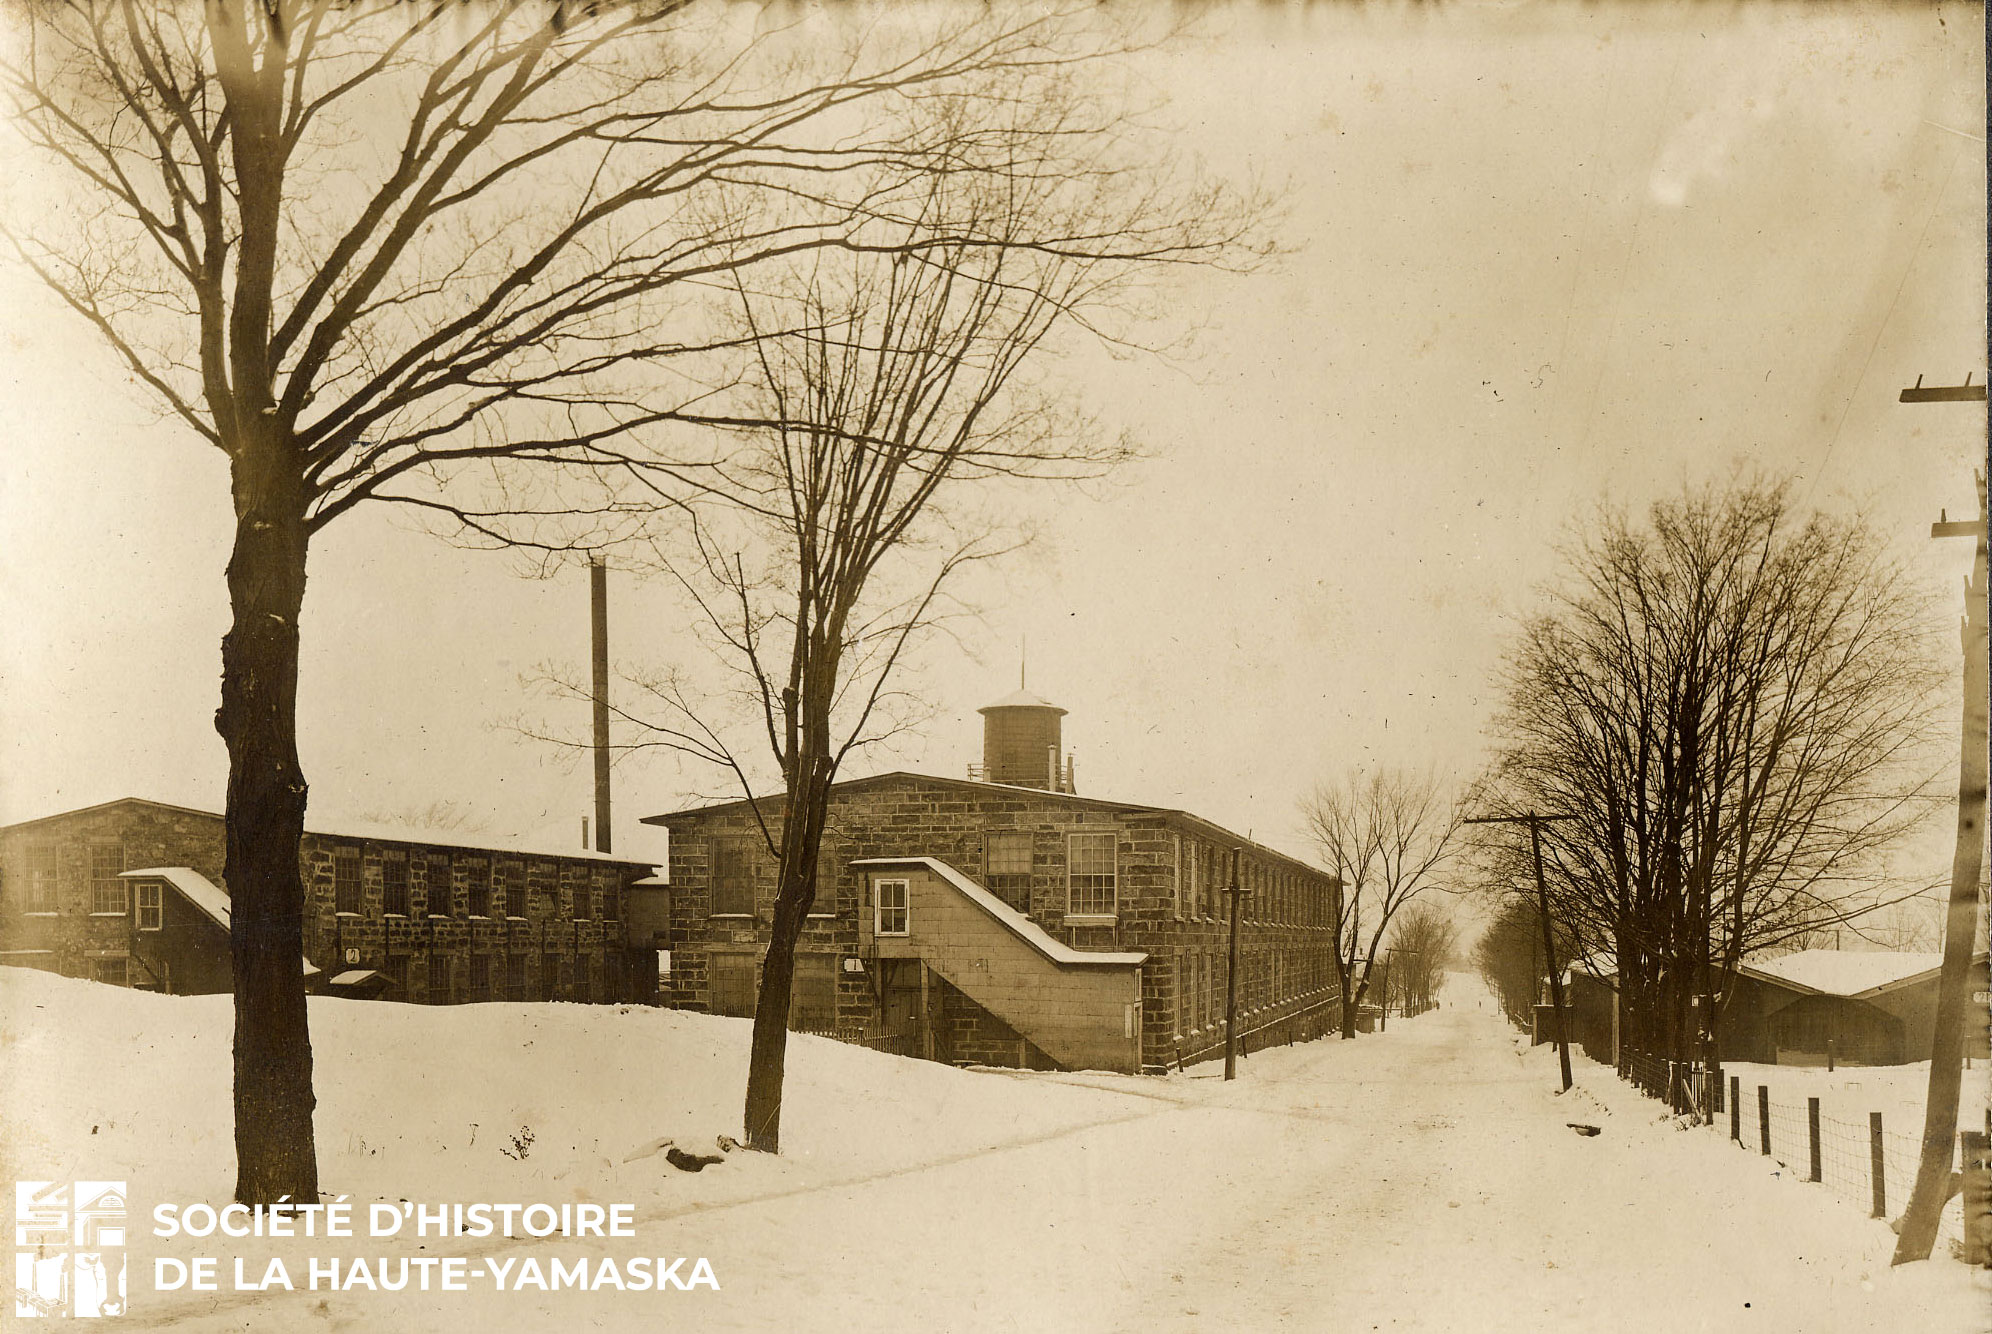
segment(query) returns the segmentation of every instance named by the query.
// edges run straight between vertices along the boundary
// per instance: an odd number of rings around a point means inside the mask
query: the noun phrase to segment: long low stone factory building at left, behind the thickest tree
[[[0,828],[0,964],[171,994],[231,990],[223,826],[124,798]],[[592,852],[307,832],[311,984],[426,1003],[622,1001],[655,988],[629,950],[647,864]],[[651,886],[655,882],[649,882]]]

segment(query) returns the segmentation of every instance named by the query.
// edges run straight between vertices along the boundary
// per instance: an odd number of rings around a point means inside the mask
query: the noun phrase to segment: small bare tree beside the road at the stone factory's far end
[[[1301,812],[1343,882],[1335,976],[1343,992],[1343,1037],[1355,1037],[1384,932],[1398,910],[1438,884],[1458,852],[1464,810],[1434,777],[1380,769],[1323,782]]]

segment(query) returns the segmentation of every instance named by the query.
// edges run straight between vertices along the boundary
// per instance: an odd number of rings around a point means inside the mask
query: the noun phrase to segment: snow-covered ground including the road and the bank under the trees
[[[1215,1063],[956,1071],[797,1037],[789,1153],[697,1175],[645,1151],[735,1129],[745,1021],[315,1000],[313,1033],[329,1193],[629,1203],[635,1236],[159,1240],[155,1205],[229,1193],[227,1000],[14,970],[0,1165],[129,1181],[145,1328],[1825,1334],[1980,1330],[1988,1308],[1974,1270],[1890,1270],[1884,1224],[1602,1067],[1558,1095],[1554,1055],[1470,990],[1382,1035],[1257,1053],[1229,1085]],[[221,1256],[221,1290],[153,1292],[153,1256],[189,1254]],[[466,1258],[466,1290],[307,1290],[313,1256],[438,1254]],[[231,1290],[237,1256],[251,1282],[283,1258],[297,1290]],[[705,1256],[719,1290],[490,1276],[584,1256]]]

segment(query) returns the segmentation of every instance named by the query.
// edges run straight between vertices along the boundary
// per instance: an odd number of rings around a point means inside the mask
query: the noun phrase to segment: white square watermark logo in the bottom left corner
[[[14,1183],[14,1314],[125,1314],[125,1183]]]

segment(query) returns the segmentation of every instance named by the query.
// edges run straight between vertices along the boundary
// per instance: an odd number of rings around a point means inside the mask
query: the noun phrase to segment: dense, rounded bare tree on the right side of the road
[[[1859,520],[1739,480],[1606,512],[1508,659],[1496,800],[1618,962],[1623,1049],[1713,1055],[1737,962],[1920,892],[1880,854],[1928,812],[1922,599]],[[1510,846],[1508,858],[1522,856]]]

